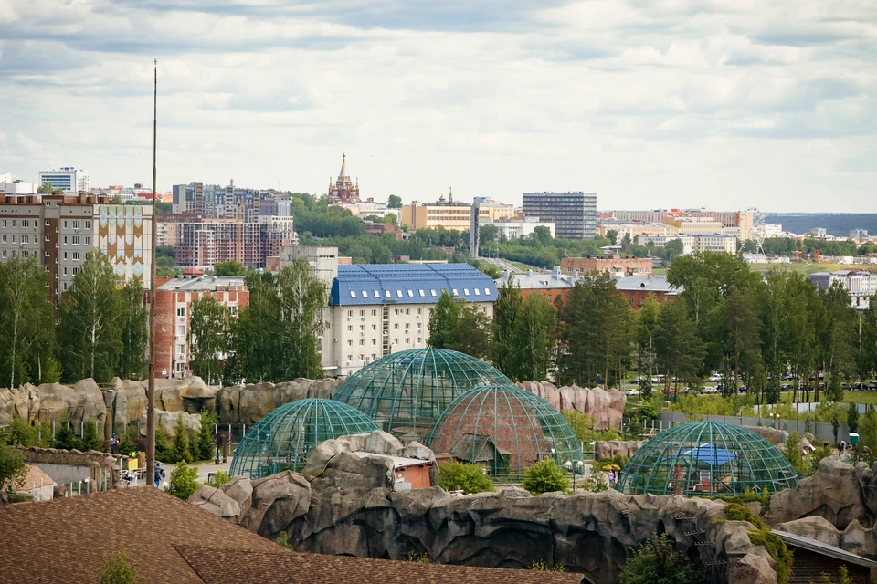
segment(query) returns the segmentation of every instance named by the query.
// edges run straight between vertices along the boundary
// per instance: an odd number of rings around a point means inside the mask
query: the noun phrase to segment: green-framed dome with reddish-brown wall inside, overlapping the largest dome
[[[497,480],[519,481],[544,458],[580,473],[576,433],[560,412],[512,384],[478,387],[452,401],[429,442],[436,453],[481,464]]]

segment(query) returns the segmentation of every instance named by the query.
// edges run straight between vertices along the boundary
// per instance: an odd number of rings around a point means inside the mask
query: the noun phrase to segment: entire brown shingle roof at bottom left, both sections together
[[[581,575],[301,554],[150,486],[0,509],[0,579],[94,582],[113,552],[150,584],[578,584]]]

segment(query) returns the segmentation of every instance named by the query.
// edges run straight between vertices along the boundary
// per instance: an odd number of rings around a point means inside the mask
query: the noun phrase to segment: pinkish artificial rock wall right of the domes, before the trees
[[[578,387],[577,385],[556,387],[548,381],[523,381],[517,383],[523,390],[535,393],[561,412],[576,410],[591,416],[598,430],[621,427],[624,415],[624,393],[618,390],[605,391],[601,388]]]

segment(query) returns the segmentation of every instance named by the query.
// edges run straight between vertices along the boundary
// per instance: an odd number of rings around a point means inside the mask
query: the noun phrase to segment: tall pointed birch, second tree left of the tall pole
[[[117,285],[110,259],[92,250],[61,296],[58,340],[66,380],[100,383],[115,376],[122,352]]]

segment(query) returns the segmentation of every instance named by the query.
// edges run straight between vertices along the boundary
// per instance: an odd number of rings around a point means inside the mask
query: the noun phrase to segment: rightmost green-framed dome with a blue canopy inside
[[[628,495],[742,495],[798,483],[776,446],[751,430],[722,422],[686,423],[662,432],[630,458],[616,488]]]

